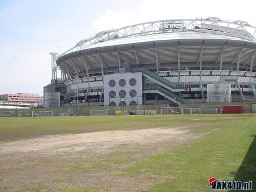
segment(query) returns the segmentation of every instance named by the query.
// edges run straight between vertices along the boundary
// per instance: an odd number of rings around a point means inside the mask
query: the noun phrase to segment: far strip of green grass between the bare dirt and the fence
[[[135,130],[151,127],[197,125],[217,121],[221,115],[141,115],[98,117],[0,118],[0,143],[43,135],[95,131]],[[233,117],[232,115],[225,115]],[[222,117],[222,116],[221,116]],[[203,118],[203,120],[193,120]],[[224,119],[222,119],[224,121]]]

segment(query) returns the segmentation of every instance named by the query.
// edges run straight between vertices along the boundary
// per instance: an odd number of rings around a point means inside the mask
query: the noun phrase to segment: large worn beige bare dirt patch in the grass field
[[[196,139],[186,127],[44,136],[0,144],[0,191],[142,191],[166,178],[122,172],[150,155]],[[35,190],[35,191],[36,191]]]

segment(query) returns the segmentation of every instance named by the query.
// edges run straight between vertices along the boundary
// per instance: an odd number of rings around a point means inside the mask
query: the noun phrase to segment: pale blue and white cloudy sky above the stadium
[[[256,1],[0,0],[0,94],[38,93],[51,80],[50,52],[81,39],[161,19],[220,17],[256,26]]]

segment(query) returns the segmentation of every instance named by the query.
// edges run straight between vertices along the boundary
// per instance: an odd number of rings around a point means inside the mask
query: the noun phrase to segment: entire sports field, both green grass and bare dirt
[[[255,124],[253,114],[0,118],[0,191],[256,185]]]

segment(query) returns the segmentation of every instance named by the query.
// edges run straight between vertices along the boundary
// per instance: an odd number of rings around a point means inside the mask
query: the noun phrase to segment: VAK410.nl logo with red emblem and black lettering
[[[208,182],[207,187],[211,187],[212,190],[252,190],[252,181],[220,181],[212,177]]]

